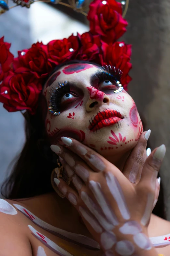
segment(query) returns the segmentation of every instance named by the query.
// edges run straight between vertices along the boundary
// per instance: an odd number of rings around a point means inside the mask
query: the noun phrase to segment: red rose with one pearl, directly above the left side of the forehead
[[[47,46],[49,61],[58,65],[62,62],[76,59],[79,39],[78,36],[73,36],[72,34],[68,39],[50,41]]]

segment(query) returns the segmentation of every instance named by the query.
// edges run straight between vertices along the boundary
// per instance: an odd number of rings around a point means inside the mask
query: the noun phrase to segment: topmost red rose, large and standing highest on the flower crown
[[[94,0],[87,16],[92,34],[99,34],[106,43],[114,43],[126,31],[121,4],[115,0]]]

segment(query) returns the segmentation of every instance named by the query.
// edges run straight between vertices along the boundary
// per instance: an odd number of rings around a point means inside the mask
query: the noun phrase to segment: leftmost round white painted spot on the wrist
[[[105,250],[111,249],[117,242],[116,236],[112,231],[105,231],[101,234],[101,244]]]

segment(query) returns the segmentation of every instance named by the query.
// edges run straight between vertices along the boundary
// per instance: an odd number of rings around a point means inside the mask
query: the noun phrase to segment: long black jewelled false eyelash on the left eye
[[[69,82],[64,81],[63,83],[58,83],[56,87],[53,85],[49,91],[49,111],[53,113],[53,115],[60,114],[60,98],[70,91]]]

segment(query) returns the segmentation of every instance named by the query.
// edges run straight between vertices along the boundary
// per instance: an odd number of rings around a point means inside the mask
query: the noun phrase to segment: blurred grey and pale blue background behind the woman
[[[129,94],[146,129],[151,129],[151,149],[161,144],[167,148],[160,176],[170,220],[170,1],[130,0],[126,19],[129,25],[123,40],[133,44]],[[88,30],[85,16],[60,5],[35,3],[30,9],[17,7],[0,16],[0,37],[12,43],[15,56],[37,41],[48,43]],[[24,144],[23,123],[20,112],[8,113],[0,104],[0,183]]]

